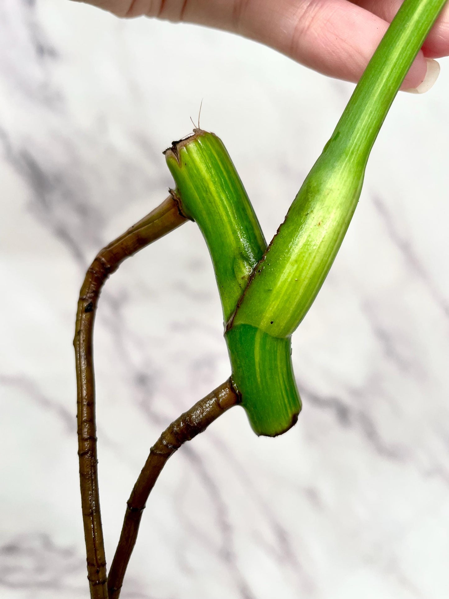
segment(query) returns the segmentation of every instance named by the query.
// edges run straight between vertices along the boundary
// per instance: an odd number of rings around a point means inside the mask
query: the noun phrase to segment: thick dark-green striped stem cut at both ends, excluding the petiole
[[[227,322],[235,311],[266,242],[245,189],[222,141],[196,129],[165,152],[183,213],[198,223],[214,264]],[[301,409],[290,339],[254,327],[226,335],[233,385],[257,434],[290,428]]]

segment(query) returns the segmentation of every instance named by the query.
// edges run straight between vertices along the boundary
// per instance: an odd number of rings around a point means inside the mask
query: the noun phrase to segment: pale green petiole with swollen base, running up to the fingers
[[[353,216],[386,114],[444,0],[405,0],[239,302],[233,325],[274,337],[312,305]]]

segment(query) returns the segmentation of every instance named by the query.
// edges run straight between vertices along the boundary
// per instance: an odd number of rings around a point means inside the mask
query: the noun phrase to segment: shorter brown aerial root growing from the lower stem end
[[[110,599],[119,599],[123,578],[137,539],[145,503],[165,462],[185,441],[190,441],[193,437],[196,437],[223,412],[239,404],[240,401],[231,380],[228,379],[226,383],[223,383],[209,395],[206,395],[204,399],[198,401],[188,412],[184,412],[174,420],[151,447],[150,455],[148,455],[128,500],[122,533],[108,577]]]

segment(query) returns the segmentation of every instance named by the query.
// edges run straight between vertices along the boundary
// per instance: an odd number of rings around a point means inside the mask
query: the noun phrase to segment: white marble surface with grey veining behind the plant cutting
[[[171,459],[123,599],[449,596],[449,63],[401,94],[341,252],[294,336],[304,409],[242,409]],[[0,595],[87,598],[72,336],[96,251],[166,196],[162,150],[223,138],[267,238],[353,86],[195,26],[0,2]],[[229,376],[195,225],[126,262],[96,326],[108,561],[162,429]]]

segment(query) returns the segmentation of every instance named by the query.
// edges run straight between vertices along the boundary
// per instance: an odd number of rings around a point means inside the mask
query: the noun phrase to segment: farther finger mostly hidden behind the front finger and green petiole
[[[402,0],[354,0],[354,3],[371,11],[388,22],[398,12]],[[449,55],[449,4],[446,4],[423,45],[424,56],[441,58]]]

